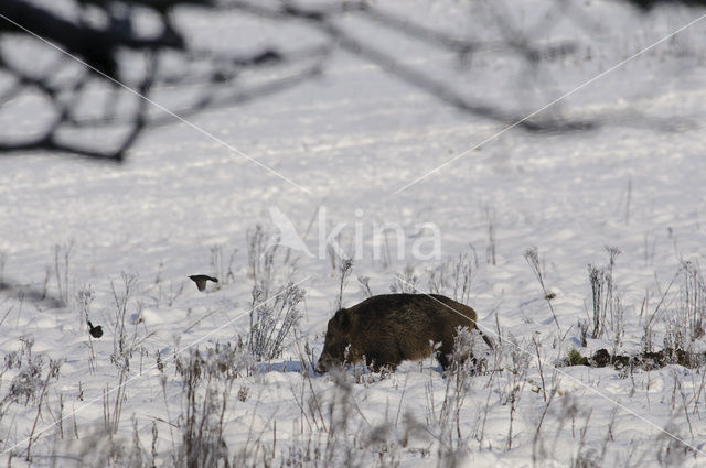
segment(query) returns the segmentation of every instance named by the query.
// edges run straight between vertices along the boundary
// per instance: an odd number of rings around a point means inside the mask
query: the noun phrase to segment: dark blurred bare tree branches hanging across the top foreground
[[[72,1],[72,0],[67,0]],[[38,122],[38,129],[19,140],[0,137],[0,153],[23,154],[26,152],[60,152],[86,156],[89,159],[122,161],[146,129],[174,122],[174,115],[186,118],[206,109],[237,106],[243,102],[261,99],[266,96],[290,89],[327,72],[327,66],[336,52],[343,51],[367,63],[375,64],[387,74],[417,89],[436,97],[441,102],[469,115],[501,124],[517,124],[530,132],[569,132],[586,131],[600,126],[602,119],[568,119],[561,112],[543,112],[525,120],[526,109],[515,99],[490,99],[473,90],[477,77],[469,66],[464,76],[464,86],[458,87],[439,78],[434,70],[415,66],[394,50],[385,47],[374,37],[361,35],[345,22],[354,19],[375,28],[382,28],[392,34],[427,46],[436,47],[456,56],[460,64],[472,64],[480,54],[493,54],[514,61],[521,72],[514,79],[518,89],[542,91],[550,83],[550,75],[543,74],[545,64],[565,59],[577,53],[580,44],[573,41],[547,40],[559,19],[568,19],[591,32],[598,28],[590,20],[581,19],[577,7],[565,0],[547,0],[546,14],[533,24],[520,26],[512,21],[512,8],[496,0],[489,10],[493,31],[491,39],[484,34],[469,31],[467,36],[456,34],[413,21],[403,13],[394,13],[367,1],[331,1],[306,7],[292,1],[267,0],[73,0],[77,9],[73,13],[44,7],[28,0],[3,0],[0,2],[0,41],[13,41],[17,36],[32,37],[33,34],[54,44],[66,53],[79,57],[92,69],[86,73],[61,74],[68,67],[78,65],[61,55],[56,63],[41,72],[29,70],[10,55],[0,55],[0,76],[9,80],[0,81],[0,112],[12,111],[11,102],[19,97],[39,94],[47,102],[54,117],[47,124]],[[700,7],[706,0],[624,0],[643,11],[657,6],[681,3]],[[267,45],[243,51],[233,46],[215,50],[195,46],[186,40],[188,33],[173,23],[179,9],[202,8],[206,14],[234,14],[236,18],[249,17],[264,19],[272,24],[297,23],[312,33],[313,44],[293,46],[293,41],[280,45]],[[461,8],[461,7],[459,7]],[[78,11],[78,13],[76,13]],[[148,32],[138,31],[138,18],[151,11],[158,19],[157,28]],[[96,12],[105,21],[95,21]],[[88,19],[89,14],[94,20]],[[493,15],[494,13],[494,15]],[[17,26],[19,24],[21,28]],[[30,31],[31,33],[28,33]],[[474,39],[471,39],[474,37]],[[286,37],[276,37],[275,43]],[[39,48],[49,48],[47,44],[36,41]],[[1,50],[0,50],[1,51]],[[120,58],[121,51],[129,51],[131,63],[145,63],[140,76],[135,67],[126,72]],[[179,66],[161,65],[159,58],[165,54],[178,57]],[[245,84],[248,76],[257,75],[266,68],[277,73],[259,75],[263,79]],[[120,79],[130,89],[152,99],[160,89],[183,88],[180,105],[170,109],[170,115],[156,113],[149,102],[139,99],[127,89],[121,89],[108,78]],[[512,83],[513,77],[504,77]],[[104,108],[92,104],[90,111],[82,106],[87,98],[87,85],[101,84],[106,88]],[[107,87],[106,87],[107,85]],[[475,95],[475,97],[473,96]],[[556,106],[555,106],[556,107]],[[150,112],[152,110],[152,112]],[[534,109],[533,109],[534,110]],[[639,116],[638,116],[639,117]],[[611,124],[620,119],[613,116]],[[654,119],[653,119],[654,120]],[[652,122],[653,120],[650,120]],[[634,124],[635,115],[631,115]],[[648,120],[645,120],[648,122]],[[44,126],[44,127],[40,127]],[[678,129],[676,122],[665,128]],[[96,144],[90,138],[81,138],[83,133],[114,128],[121,129],[118,141],[111,148]],[[71,135],[67,137],[66,134]]]

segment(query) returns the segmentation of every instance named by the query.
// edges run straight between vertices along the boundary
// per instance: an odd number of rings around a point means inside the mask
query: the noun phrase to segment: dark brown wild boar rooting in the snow
[[[397,367],[404,360],[431,353],[429,341],[439,342],[437,359],[443,369],[453,350],[457,327],[477,328],[475,311],[437,294],[384,294],[342,308],[329,320],[318,372],[343,362]],[[483,339],[492,346],[485,336]],[[346,355],[347,350],[347,355]]]

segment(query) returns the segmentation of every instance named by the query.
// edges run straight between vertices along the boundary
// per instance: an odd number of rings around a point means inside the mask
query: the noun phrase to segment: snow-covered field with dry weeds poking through
[[[484,2],[377,3],[493,34]],[[514,20],[547,4],[513,4]],[[576,11],[542,36],[578,47],[541,64],[538,88],[492,51],[464,68],[355,17],[344,26],[526,116],[704,13]],[[178,20],[204,43],[315,40],[266,20]],[[122,165],[0,159],[0,276],[66,303],[0,295],[0,466],[706,466],[705,64],[706,20],[550,109],[595,129],[489,140],[504,126],[343,52],[312,80],[189,118],[271,172],[178,121]],[[3,135],[42,118],[40,102],[13,105]],[[383,225],[396,228],[376,236]],[[199,292],[197,273],[220,282]],[[339,301],[391,289],[472,306],[495,350],[475,340],[478,369],[449,374],[431,358],[314,373]],[[301,314],[269,356],[252,352],[254,306]],[[666,348],[654,366],[570,364]]]

